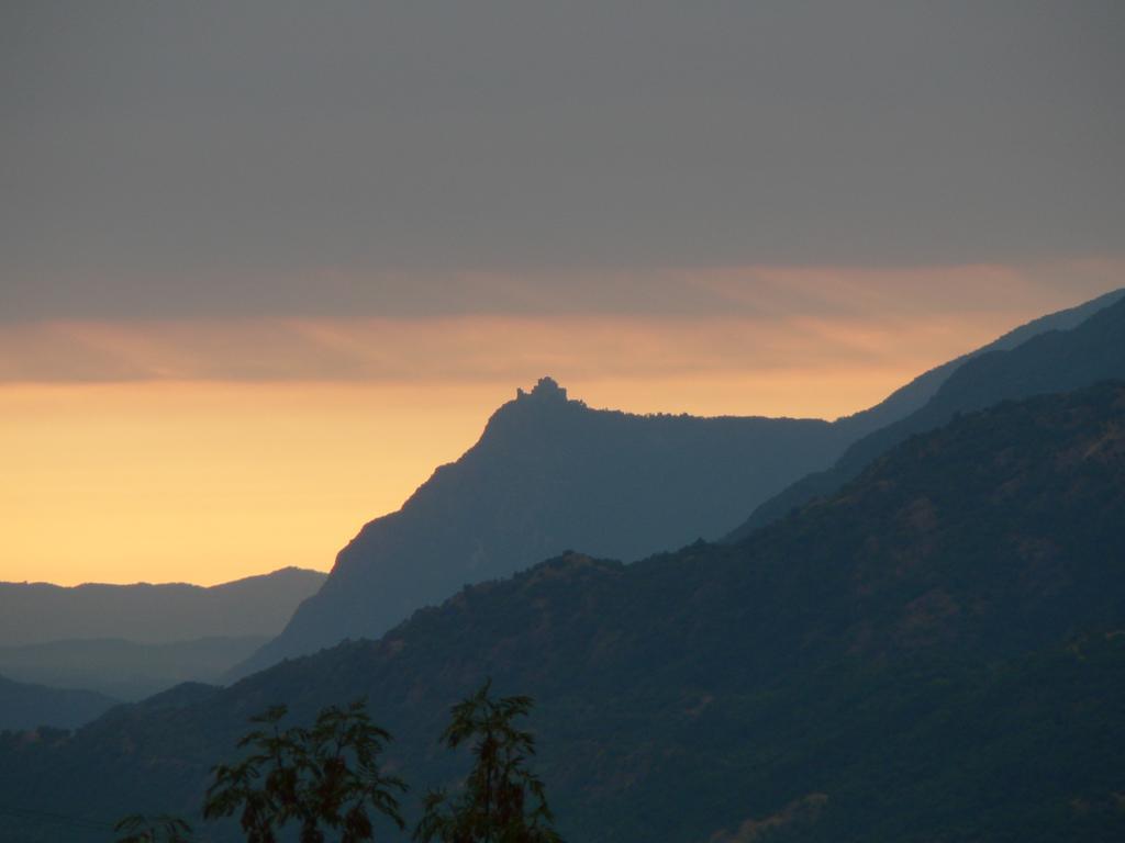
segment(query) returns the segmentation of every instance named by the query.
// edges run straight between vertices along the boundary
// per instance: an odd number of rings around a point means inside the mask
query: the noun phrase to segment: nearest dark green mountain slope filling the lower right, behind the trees
[[[417,794],[464,770],[436,736],[492,676],[539,700],[568,840],[1119,840],[1123,546],[1125,383],[1005,402],[739,544],[567,554],[379,642],[9,738],[0,791],[190,813],[250,714],[367,695]]]

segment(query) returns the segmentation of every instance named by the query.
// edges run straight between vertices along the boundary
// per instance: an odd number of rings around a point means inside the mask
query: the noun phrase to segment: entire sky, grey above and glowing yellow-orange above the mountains
[[[1125,284],[1119,2],[8,2],[0,579],[327,569],[544,374],[834,418]]]

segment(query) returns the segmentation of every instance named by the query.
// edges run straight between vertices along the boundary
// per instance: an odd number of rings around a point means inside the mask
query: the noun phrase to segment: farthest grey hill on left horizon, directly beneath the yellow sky
[[[0,582],[0,646],[66,638],[161,644],[274,635],[324,579],[320,571],[285,568],[210,588]]]

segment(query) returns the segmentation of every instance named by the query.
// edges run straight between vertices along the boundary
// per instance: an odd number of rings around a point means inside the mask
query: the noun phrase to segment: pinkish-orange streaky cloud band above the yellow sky
[[[0,325],[0,382],[917,372],[1122,279],[1125,268],[1113,262],[1035,271],[752,266],[569,281],[475,274],[462,283],[478,305],[464,312]]]

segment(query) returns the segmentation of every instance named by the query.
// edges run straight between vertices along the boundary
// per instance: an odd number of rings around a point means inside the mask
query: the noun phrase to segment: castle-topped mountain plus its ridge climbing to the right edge
[[[550,378],[542,379],[530,392],[518,389],[515,400],[503,405],[492,415],[479,441],[460,460],[439,466],[399,510],[366,524],[338,555],[333,572],[322,591],[302,604],[286,629],[228,673],[227,679],[246,676],[282,658],[314,652],[344,637],[378,635],[406,617],[411,610],[443,599],[466,582],[511,573],[536,559],[549,556],[565,547],[584,547],[597,556],[628,561],[681,546],[698,537],[711,540],[730,535],[732,524],[746,522],[747,513],[760,509],[771,498],[788,488],[783,481],[786,472],[792,475],[789,482],[799,484],[801,478],[829,468],[837,457],[846,453],[847,447],[854,446],[857,438],[874,435],[881,425],[898,422],[903,415],[918,411],[961,366],[992,351],[1018,347],[1044,332],[1080,325],[1092,314],[1112,307],[1123,297],[1125,289],[1116,290],[1034,319],[974,352],[919,375],[875,407],[835,423],[763,417],[694,419],[686,415],[636,416],[618,410],[592,410],[582,401],[570,400],[566,390]],[[726,453],[703,457],[710,461],[708,470],[703,472],[692,472],[682,464],[687,454],[688,446],[685,444],[663,450],[652,448],[652,460],[677,468],[664,475],[648,471],[647,486],[650,488],[638,489],[637,484],[629,486],[620,475],[641,474],[645,472],[644,466],[618,464],[618,475],[601,477],[593,482],[588,481],[598,477],[601,465],[588,465],[584,469],[585,474],[575,470],[575,464],[582,462],[582,454],[578,453],[574,437],[568,439],[560,435],[559,426],[552,423],[561,417],[576,418],[583,414],[602,414],[602,418],[615,418],[619,422],[632,420],[639,432],[634,434],[638,437],[647,435],[640,432],[645,426],[651,429],[658,425],[664,426],[665,436],[674,436],[676,434],[670,428],[680,424],[696,425],[700,429],[712,432],[736,425],[757,425],[759,429],[770,426],[777,429],[788,427],[790,432],[803,427],[804,438],[796,442],[790,435],[786,441],[785,435],[777,435],[775,441],[768,441],[767,436],[760,435],[757,438],[757,452],[739,450],[728,443],[724,446]],[[564,460],[551,462],[542,454],[537,455],[528,445],[529,436],[537,433],[551,447],[561,448],[570,464]],[[594,439],[606,435],[606,430],[585,435],[588,439]],[[539,472],[541,484],[549,481],[560,487],[555,498],[544,497],[534,483],[521,484],[519,479],[504,475],[501,466],[487,463],[489,456],[497,461],[507,459],[503,447],[505,437],[526,445],[513,461],[515,464],[512,470],[523,471],[532,478]],[[620,454],[627,445],[595,444],[594,448],[597,447],[601,447],[597,460],[587,463],[613,465],[614,461],[620,463]],[[699,443],[691,444],[691,447],[705,450]],[[687,462],[693,459],[699,457],[687,454]],[[786,463],[783,468],[777,465],[778,459]],[[763,471],[764,466],[766,471]],[[469,469],[478,473],[476,486],[471,479],[467,479]],[[737,471],[745,472],[753,482],[734,478],[732,472]],[[704,491],[711,480],[706,477],[708,472],[723,474],[729,479],[721,488],[708,493]],[[652,499],[651,488],[669,482],[682,487],[684,493],[677,500]],[[508,493],[506,497],[501,495],[496,500],[496,507],[503,509],[502,516],[508,519],[503,529],[521,536],[506,547],[501,546],[505,544],[505,540],[500,535],[498,524],[489,526],[490,520],[500,516],[483,511],[477,506],[477,499],[487,498],[492,489],[505,484],[510,489],[519,487],[520,492]],[[596,491],[591,492],[591,487]],[[621,504],[613,500],[612,495],[603,493],[614,489],[619,492],[619,499],[645,500],[647,496],[644,506],[648,508],[650,517],[630,514],[630,524],[598,524],[592,529],[574,526],[582,524],[593,527],[595,522],[603,518],[603,514],[595,511],[595,507],[584,508],[580,505],[584,496],[598,498],[601,495],[597,502],[602,510],[620,509]],[[458,500],[459,495],[467,499],[464,504]],[[519,499],[520,496],[525,499]],[[458,511],[459,508],[472,510],[474,507],[477,508],[472,515]],[[695,511],[688,513],[692,508]],[[430,511],[432,522],[429,525],[416,524],[418,518],[424,520],[418,515],[420,509]],[[712,510],[717,515],[709,518],[700,510]],[[467,538],[441,538],[450,524],[458,519],[460,525],[454,532]],[[726,523],[721,523],[722,519],[727,519]],[[628,517],[622,520],[628,520]],[[677,529],[669,529],[669,525],[675,525]],[[620,541],[629,531],[645,535],[648,541],[631,544]],[[441,545],[441,549],[436,545]],[[417,569],[416,577],[411,580],[404,575],[404,568]]]

